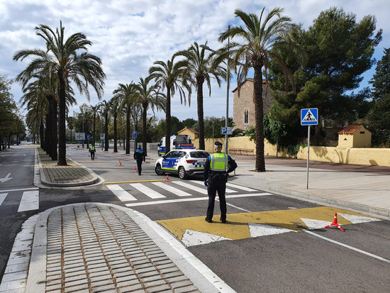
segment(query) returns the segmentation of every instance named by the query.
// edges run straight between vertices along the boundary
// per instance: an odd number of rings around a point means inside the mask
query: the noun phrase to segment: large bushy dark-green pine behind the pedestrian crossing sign
[[[358,94],[349,92],[359,86],[361,74],[374,62],[372,54],[381,40],[381,30],[374,31],[374,16],[364,16],[357,22],[354,14],[336,8],[321,12],[307,31],[295,26],[294,36],[307,53],[306,65],[297,66],[291,53],[284,54],[283,60],[294,69],[299,92],[281,94],[279,91],[284,89],[282,71],[277,63],[270,67],[273,97],[278,104],[273,118],[284,124],[289,120],[286,126],[296,130],[288,131],[290,140],[300,137],[297,117],[303,108],[318,108],[321,118],[333,126],[344,125],[345,121],[354,123],[364,116],[369,94],[364,90]],[[320,134],[321,124],[318,123],[313,143],[319,143]]]

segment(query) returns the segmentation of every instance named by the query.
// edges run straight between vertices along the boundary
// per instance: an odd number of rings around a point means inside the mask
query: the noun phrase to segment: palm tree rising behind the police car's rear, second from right
[[[196,101],[198,104],[199,121],[199,149],[204,150],[204,111],[203,111],[203,85],[206,82],[208,94],[211,96],[211,78],[215,78],[221,87],[221,78],[225,79],[226,70],[218,62],[214,53],[205,55],[205,49],[199,50],[198,43],[194,43],[188,50],[177,52],[177,55],[185,57],[186,70],[184,84],[191,84],[196,88]],[[189,92],[191,94],[191,92]]]

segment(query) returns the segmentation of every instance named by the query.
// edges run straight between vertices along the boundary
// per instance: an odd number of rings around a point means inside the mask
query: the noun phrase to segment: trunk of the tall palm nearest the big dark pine
[[[262,65],[254,66],[253,77],[255,91],[255,135],[256,135],[256,165],[257,172],[265,172],[264,162],[264,111],[262,101]]]

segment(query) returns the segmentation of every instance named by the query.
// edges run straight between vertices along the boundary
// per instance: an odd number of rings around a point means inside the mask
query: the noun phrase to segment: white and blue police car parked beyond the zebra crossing
[[[206,162],[208,155],[204,150],[171,150],[167,155],[157,160],[155,172],[157,175],[177,174],[180,179],[201,175],[204,172],[204,162]]]

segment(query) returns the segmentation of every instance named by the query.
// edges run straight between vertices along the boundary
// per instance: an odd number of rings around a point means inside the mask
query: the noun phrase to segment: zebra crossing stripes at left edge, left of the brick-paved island
[[[18,205],[18,213],[22,211],[33,211],[35,209],[39,209],[38,187],[26,188],[26,189],[0,190],[0,208],[1,206],[4,206],[6,201],[12,201],[20,197],[20,195],[21,195],[21,201],[19,202]]]

